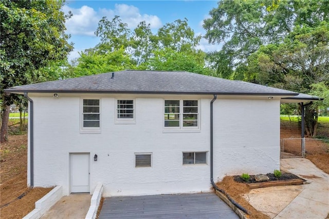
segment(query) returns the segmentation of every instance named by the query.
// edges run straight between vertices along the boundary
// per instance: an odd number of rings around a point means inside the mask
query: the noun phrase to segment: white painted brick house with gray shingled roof
[[[105,196],[209,191],[212,175],[279,169],[280,102],[298,95],[136,70],[6,92],[29,99],[28,185],[62,185],[67,195],[102,182]]]

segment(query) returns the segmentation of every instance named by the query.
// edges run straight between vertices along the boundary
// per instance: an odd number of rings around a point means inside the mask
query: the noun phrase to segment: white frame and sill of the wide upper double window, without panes
[[[165,126],[165,114],[166,113],[166,100],[179,100],[179,126]],[[183,126],[183,116],[184,116],[184,100],[196,100],[197,101],[197,126]],[[164,99],[163,100],[163,114],[162,114],[162,121],[163,121],[163,130],[165,132],[170,131],[199,131],[200,130],[200,100],[199,99]]]

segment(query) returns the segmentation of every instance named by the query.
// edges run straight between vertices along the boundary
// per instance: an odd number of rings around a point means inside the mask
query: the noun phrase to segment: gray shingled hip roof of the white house
[[[112,76],[114,75],[114,78]],[[295,96],[298,93],[186,71],[123,70],[16,86],[10,93],[138,93]]]

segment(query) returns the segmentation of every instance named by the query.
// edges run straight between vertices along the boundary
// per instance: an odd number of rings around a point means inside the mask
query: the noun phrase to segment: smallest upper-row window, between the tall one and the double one
[[[135,104],[132,99],[116,100],[116,123],[134,123]]]

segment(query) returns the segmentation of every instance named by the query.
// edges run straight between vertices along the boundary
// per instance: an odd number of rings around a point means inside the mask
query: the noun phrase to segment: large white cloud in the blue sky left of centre
[[[162,26],[161,20],[156,15],[140,14],[139,9],[133,5],[115,4],[114,9],[100,8],[95,11],[94,8],[82,6],[81,8],[70,8],[64,5],[62,8],[65,14],[68,11],[73,16],[66,21],[66,32],[72,35],[93,36],[97,29],[98,22],[103,16],[108,20],[113,19],[115,15],[120,16],[122,22],[126,23],[129,28],[134,29],[141,21],[151,25],[151,28]]]

